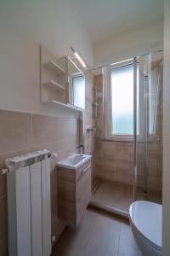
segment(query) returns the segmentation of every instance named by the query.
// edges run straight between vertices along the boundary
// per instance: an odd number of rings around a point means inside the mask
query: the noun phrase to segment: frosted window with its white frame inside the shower
[[[106,137],[131,139],[133,137],[133,63],[122,67],[110,67],[109,81],[107,91],[110,101],[107,105]]]

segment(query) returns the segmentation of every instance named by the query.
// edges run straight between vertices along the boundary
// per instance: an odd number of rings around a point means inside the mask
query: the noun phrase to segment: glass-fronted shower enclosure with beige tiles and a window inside
[[[127,216],[128,207],[132,201],[148,200],[161,203],[162,65],[163,52],[159,51],[104,67],[103,73],[95,76],[94,168],[96,178],[91,203],[97,207]],[[105,102],[109,101],[113,91],[116,93],[114,83],[117,81],[117,77],[115,80],[111,77],[114,90],[105,89],[106,84],[109,83],[108,70],[116,76],[120,76],[125,71],[131,72],[133,98],[130,103],[133,111],[131,117],[133,126],[131,134],[129,128],[130,135],[126,139],[122,134],[116,137],[105,137],[105,129],[110,123],[110,119],[108,121],[105,116],[107,109],[111,108],[111,104],[108,105]],[[126,86],[126,83],[127,81],[123,86]],[[122,90],[124,94],[130,93],[126,91],[126,87],[122,87]],[[129,102],[126,105],[125,99],[125,95],[122,95],[122,106],[128,108]],[[113,104],[116,104],[116,96],[112,96],[112,106]],[[110,117],[112,118],[114,114],[112,109]],[[122,119],[120,124],[126,127],[126,120]],[[116,124],[113,125],[116,127]]]

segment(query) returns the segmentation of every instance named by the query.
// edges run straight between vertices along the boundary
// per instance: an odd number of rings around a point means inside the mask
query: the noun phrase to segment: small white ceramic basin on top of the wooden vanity
[[[76,170],[78,167],[82,166],[88,160],[91,159],[90,154],[73,154],[64,160],[59,161],[57,166],[65,167],[68,169]]]

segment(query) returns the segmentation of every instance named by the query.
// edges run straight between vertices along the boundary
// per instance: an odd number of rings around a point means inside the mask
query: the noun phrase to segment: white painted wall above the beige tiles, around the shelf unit
[[[93,64],[92,45],[69,0],[0,2],[0,108],[63,116],[40,103],[39,44],[54,55],[80,50]]]

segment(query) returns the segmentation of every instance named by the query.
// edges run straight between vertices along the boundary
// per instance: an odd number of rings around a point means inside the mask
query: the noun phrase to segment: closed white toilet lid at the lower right
[[[161,247],[162,205],[135,201],[130,206],[129,214],[139,232],[156,247]]]

